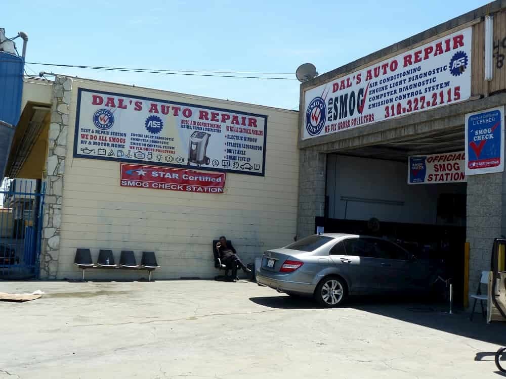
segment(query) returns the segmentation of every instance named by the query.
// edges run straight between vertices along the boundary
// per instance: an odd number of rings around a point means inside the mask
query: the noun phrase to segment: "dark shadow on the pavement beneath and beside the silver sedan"
[[[277,309],[320,308],[310,298],[292,298],[286,295],[255,297],[249,300],[259,305]],[[478,313],[475,315],[474,320],[470,321],[469,313],[464,311],[446,314],[445,312],[449,310],[447,304],[434,304],[423,299],[418,301],[418,299],[413,300],[412,298],[356,297],[350,298],[343,305],[343,308],[354,308],[363,312],[395,318],[400,321],[438,329],[462,337],[500,346],[506,345],[506,322],[487,324],[481,314]],[[329,311],[336,310],[339,310],[339,308],[329,309]]]

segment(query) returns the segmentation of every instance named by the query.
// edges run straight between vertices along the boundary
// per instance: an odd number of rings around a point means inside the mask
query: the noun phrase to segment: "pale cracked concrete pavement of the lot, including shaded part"
[[[0,379],[486,379],[501,377],[487,353],[506,345],[506,323],[480,315],[377,299],[319,309],[245,280],[0,281],[38,289],[0,302]]]

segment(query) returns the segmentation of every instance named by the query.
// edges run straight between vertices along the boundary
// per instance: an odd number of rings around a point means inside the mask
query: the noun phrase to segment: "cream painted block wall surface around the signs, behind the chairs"
[[[224,194],[196,194],[119,185],[119,162],[73,158],[79,87],[238,110],[268,116],[265,177],[227,173]],[[246,263],[296,234],[298,113],[126,85],[73,79],[68,120],[57,278],[77,278],[75,249],[155,251],[154,278],[210,278],[212,240],[225,234]],[[142,275],[146,275],[145,272]],[[89,270],[87,278],[138,278],[126,270]]]

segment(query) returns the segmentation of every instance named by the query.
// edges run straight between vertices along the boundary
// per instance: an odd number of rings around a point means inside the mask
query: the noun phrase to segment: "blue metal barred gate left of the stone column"
[[[45,183],[5,179],[0,188],[0,279],[38,278]]]

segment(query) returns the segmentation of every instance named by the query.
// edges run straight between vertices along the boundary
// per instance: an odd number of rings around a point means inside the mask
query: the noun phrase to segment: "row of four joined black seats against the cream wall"
[[[148,270],[151,281],[151,271],[160,267],[156,262],[155,253],[143,251],[141,264],[138,265],[132,250],[122,250],[119,256],[119,264],[115,263],[112,250],[100,250],[97,264],[93,263],[90,249],[77,249],[75,252],[74,264],[82,269],[82,280],[85,280],[85,270],[88,268],[122,268]]]

